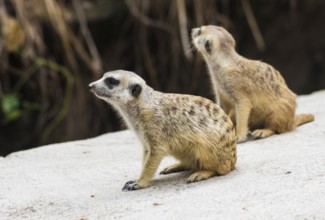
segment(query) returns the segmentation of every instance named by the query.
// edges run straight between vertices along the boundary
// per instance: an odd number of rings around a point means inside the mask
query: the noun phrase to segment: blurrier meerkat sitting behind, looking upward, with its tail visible
[[[314,120],[295,115],[296,95],[271,65],[240,56],[234,38],[222,27],[192,29],[192,40],[203,55],[217,103],[236,125],[238,142],[284,133]]]

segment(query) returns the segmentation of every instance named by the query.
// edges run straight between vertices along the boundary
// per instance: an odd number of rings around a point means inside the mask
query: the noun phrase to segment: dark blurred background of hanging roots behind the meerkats
[[[298,94],[325,88],[323,0],[0,0],[0,155],[123,129],[88,91],[109,70],[212,99],[190,30],[222,25],[237,51]]]

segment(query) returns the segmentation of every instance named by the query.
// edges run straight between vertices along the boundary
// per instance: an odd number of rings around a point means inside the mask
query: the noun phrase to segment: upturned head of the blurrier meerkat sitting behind
[[[235,48],[235,40],[231,34],[224,28],[213,25],[193,28],[192,41],[206,58],[229,53]]]

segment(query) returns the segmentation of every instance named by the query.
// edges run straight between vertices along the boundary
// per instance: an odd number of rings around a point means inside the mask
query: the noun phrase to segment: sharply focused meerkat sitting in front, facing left
[[[128,181],[123,191],[147,187],[167,155],[179,163],[160,174],[192,170],[187,183],[224,175],[235,168],[235,128],[214,102],[155,91],[140,76],[124,70],[105,73],[89,88],[118,111],[144,146],[141,175],[136,181]]]

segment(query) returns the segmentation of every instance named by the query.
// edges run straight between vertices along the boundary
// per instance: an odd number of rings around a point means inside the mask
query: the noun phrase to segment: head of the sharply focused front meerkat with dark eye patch
[[[133,72],[115,70],[107,72],[99,80],[89,84],[98,98],[114,106],[126,105],[142,95],[145,81]]]

